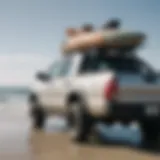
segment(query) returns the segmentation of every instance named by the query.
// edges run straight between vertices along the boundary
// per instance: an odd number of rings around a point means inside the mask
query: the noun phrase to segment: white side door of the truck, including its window
[[[70,87],[68,76],[71,72],[71,59],[63,57],[56,65],[51,68],[52,81],[48,88],[50,107],[56,112],[64,110],[65,97]]]

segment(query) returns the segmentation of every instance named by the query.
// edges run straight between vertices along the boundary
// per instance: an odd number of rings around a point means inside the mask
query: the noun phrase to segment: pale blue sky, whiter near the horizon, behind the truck
[[[67,27],[121,18],[148,40],[139,54],[160,69],[159,0],[0,0],[0,85],[28,85],[61,54]]]

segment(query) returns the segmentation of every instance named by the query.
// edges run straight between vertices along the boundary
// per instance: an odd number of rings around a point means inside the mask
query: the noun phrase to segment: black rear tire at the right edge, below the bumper
[[[156,149],[159,147],[160,123],[146,121],[141,123],[142,147]]]

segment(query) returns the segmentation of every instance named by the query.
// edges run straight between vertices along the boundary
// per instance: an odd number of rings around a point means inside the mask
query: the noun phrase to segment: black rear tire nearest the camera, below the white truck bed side
[[[70,138],[76,142],[86,142],[93,126],[93,119],[81,103],[72,103],[68,108]]]

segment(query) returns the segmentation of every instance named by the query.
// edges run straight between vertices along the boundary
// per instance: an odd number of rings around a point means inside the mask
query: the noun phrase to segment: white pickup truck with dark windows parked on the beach
[[[160,80],[136,49],[94,47],[63,54],[38,73],[29,96],[34,127],[42,128],[49,114],[64,114],[71,138],[84,141],[98,120],[138,121],[144,142],[155,144],[160,133]]]

